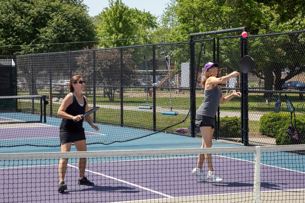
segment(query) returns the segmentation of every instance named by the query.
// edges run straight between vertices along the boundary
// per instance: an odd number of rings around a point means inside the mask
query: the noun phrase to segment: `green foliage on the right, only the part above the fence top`
[[[171,0],[161,27],[168,41],[188,40],[190,33],[247,26],[250,34],[303,30],[303,0]]]

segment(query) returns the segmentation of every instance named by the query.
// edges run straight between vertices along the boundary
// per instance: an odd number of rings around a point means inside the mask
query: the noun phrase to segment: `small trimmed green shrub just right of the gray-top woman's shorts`
[[[241,134],[240,117],[223,117],[220,118],[220,137],[222,138],[239,138]]]

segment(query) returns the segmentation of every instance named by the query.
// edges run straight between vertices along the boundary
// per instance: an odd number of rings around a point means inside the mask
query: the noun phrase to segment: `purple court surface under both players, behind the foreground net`
[[[0,169],[0,202],[120,202],[253,191],[254,163],[222,156],[213,156],[222,183],[200,182],[191,173],[197,156],[93,161],[87,163],[85,174],[94,186],[78,185],[77,164],[68,164],[68,189],[63,193],[57,191],[57,164],[14,167],[9,163],[10,168]],[[263,164],[260,168],[261,191],[304,189],[303,172]]]

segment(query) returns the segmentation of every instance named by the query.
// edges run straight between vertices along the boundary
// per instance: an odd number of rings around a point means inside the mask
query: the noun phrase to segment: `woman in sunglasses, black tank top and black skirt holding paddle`
[[[82,115],[88,111],[88,100],[81,93],[84,90],[84,80],[80,75],[73,76],[69,83],[69,94],[63,99],[57,115],[62,117],[63,120],[59,127],[59,138],[61,143],[62,152],[70,152],[72,142],[74,142],[77,151],[87,151],[85,131],[83,128]],[[90,115],[84,117],[86,121],[96,131],[99,127],[94,125]],[[77,122],[74,122],[77,121]],[[79,185],[94,185],[89,181],[85,175],[86,158],[80,158],[78,160],[79,168]],[[59,173],[59,185],[58,191],[64,191],[67,189],[67,185],[64,182],[68,159],[60,159],[58,165]]]

